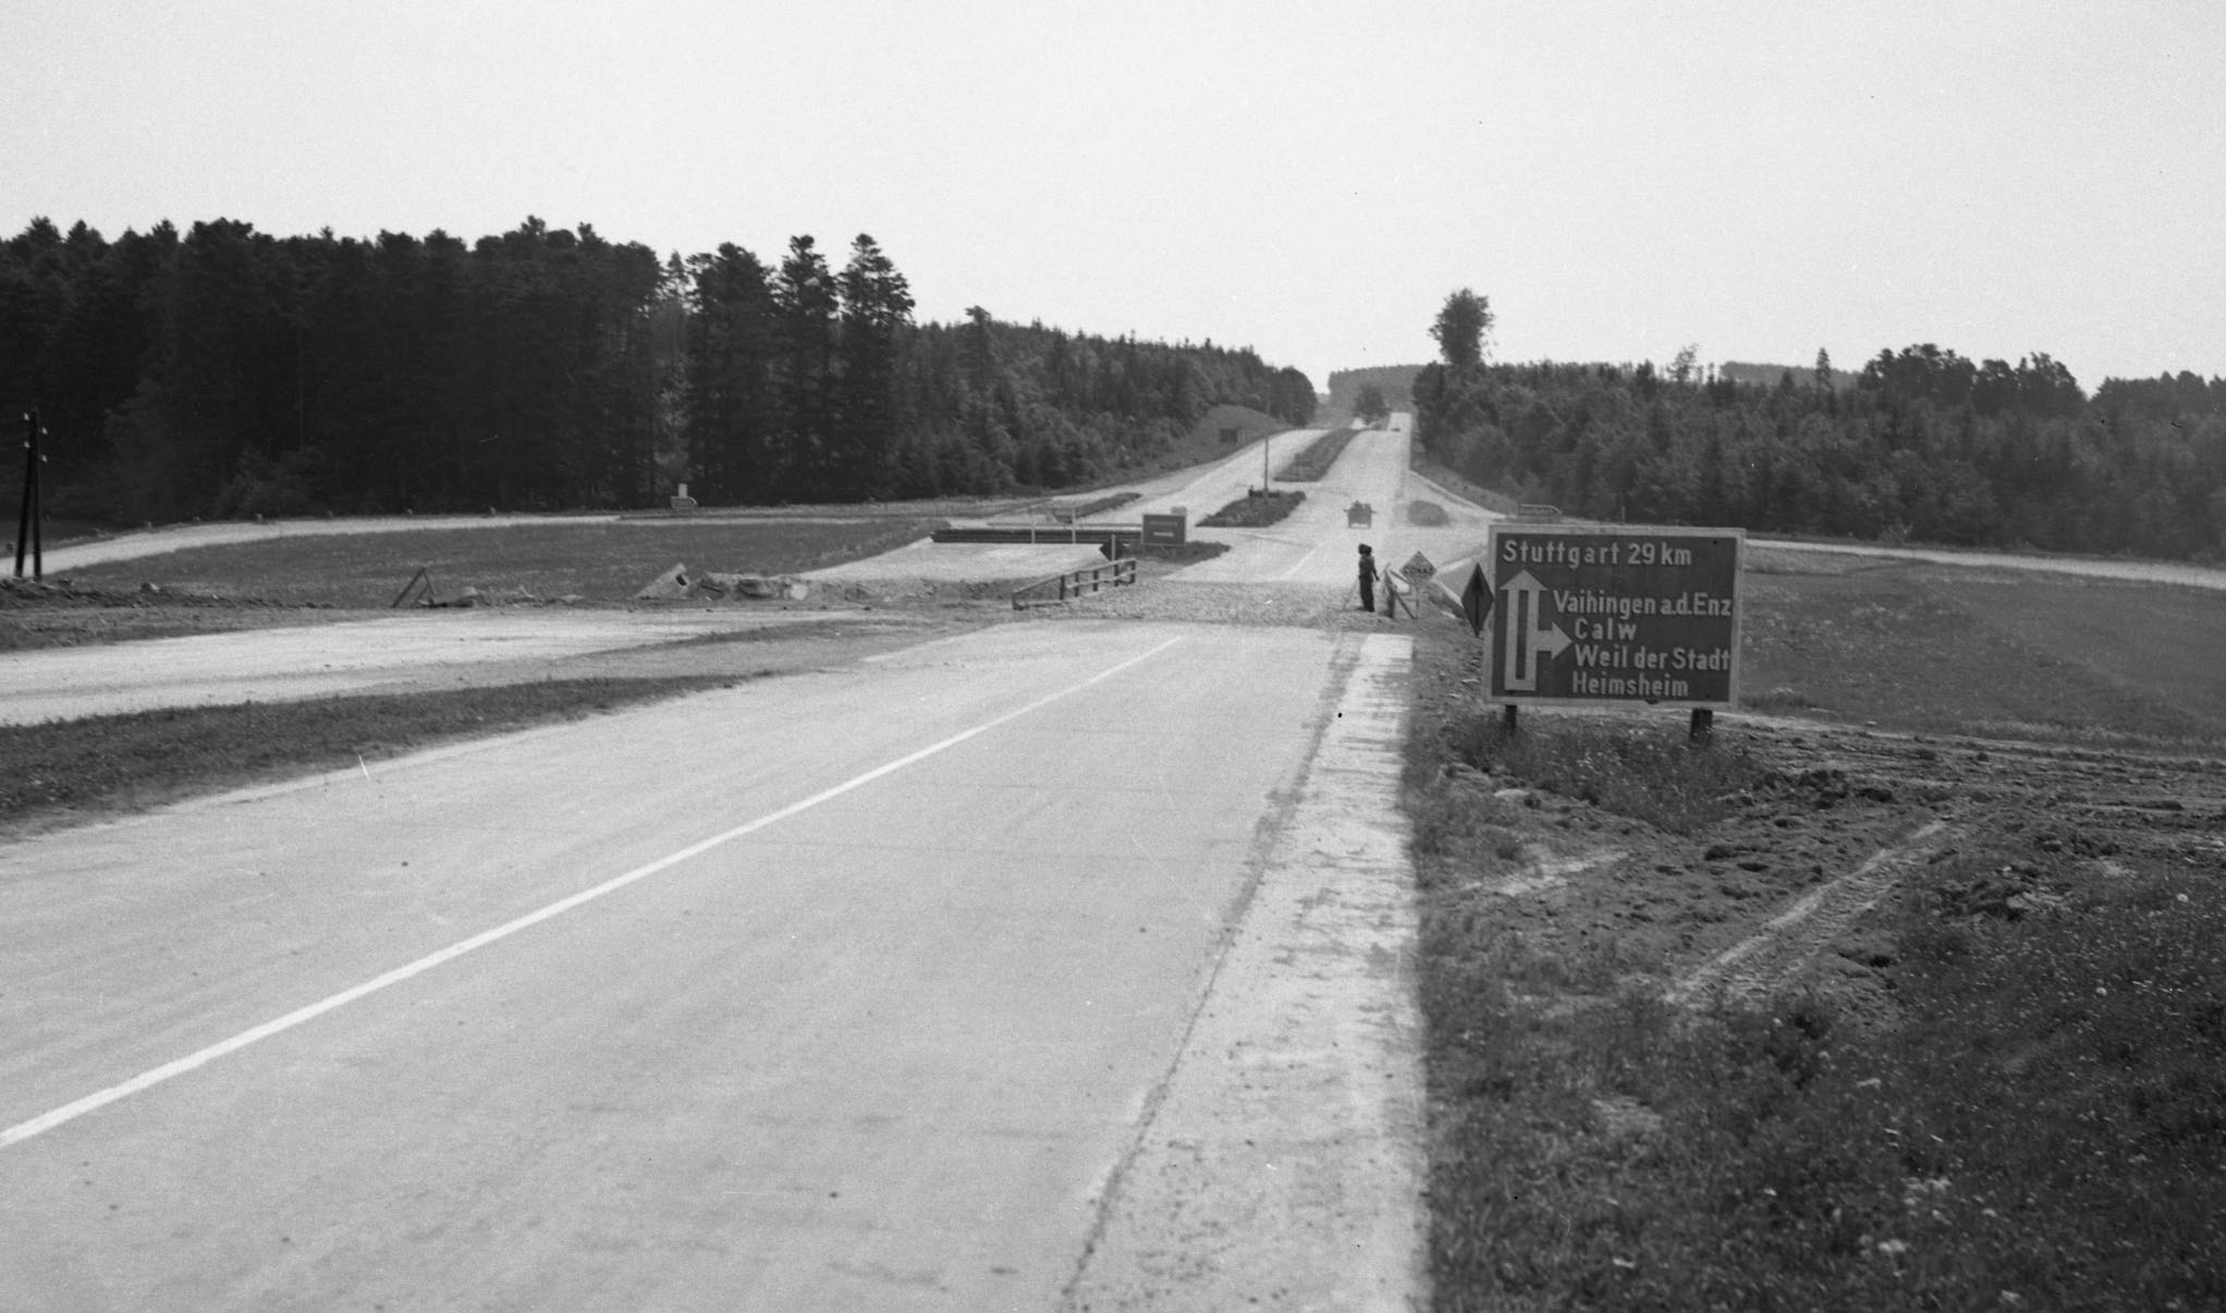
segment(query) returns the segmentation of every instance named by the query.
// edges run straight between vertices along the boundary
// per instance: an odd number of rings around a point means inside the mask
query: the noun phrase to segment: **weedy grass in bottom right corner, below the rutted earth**
[[[2168,877],[1912,924],[1883,1037],[1462,944],[1425,984],[1438,1309],[2217,1309],[2222,930],[2215,881]]]

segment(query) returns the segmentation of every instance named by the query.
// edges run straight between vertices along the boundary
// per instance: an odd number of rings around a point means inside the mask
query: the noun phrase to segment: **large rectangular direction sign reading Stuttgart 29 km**
[[[1491,701],[1732,710],[1745,530],[1491,525]]]

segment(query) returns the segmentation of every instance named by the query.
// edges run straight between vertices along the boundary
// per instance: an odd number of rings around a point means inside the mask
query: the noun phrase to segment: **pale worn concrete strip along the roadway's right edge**
[[[1405,636],[1342,690],[1066,1309],[1418,1309],[1422,1066]]]

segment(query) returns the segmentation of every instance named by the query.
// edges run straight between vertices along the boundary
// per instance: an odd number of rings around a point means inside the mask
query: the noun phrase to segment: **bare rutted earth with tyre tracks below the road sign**
[[[1456,670],[1420,672],[1420,723],[1474,710]],[[2226,877],[2217,757],[1743,714],[1716,717],[1714,750],[1765,774],[1696,835],[1447,768],[1429,788],[1483,808],[1505,835],[1498,855],[1442,872],[1449,897],[1552,952],[1614,950],[1674,1001],[1812,988],[1863,1024],[1894,1006],[1897,948],[1874,912],[1899,899],[2015,919],[2090,881],[2164,868]]]

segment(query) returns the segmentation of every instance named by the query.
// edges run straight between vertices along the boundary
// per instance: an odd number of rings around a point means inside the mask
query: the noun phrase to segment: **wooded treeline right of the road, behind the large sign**
[[[1434,458],[1574,516],[2226,559],[2226,378],[2088,396],[2046,354],[1917,345],[1845,392],[1823,372],[1678,383],[1554,363],[1434,363],[1414,392]]]

